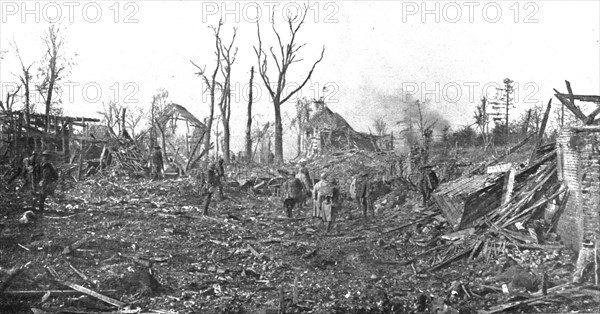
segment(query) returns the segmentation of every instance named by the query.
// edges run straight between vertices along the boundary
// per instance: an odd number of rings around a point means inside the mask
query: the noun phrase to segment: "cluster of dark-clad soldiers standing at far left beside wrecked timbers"
[[[41,155],[41,157],[40,157]],[[44,211],[44,204],[49,195],[54,195],[58,184],[58,171],[51,161],[52,153],[48,150],[41,154],[34,150],[30,156],[23,158],[20,174],[23,179],[21,191],[30,191],[37,201],[37,208]],[[36,204],[34,204],[35,207]]]

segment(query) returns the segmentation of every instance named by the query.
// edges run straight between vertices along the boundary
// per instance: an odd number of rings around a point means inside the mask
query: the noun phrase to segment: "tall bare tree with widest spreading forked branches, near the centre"
[[[321,50],[321,57],[315,63],[313,63],[312,68],[308,72],[308,75],[306,76],[302,84],[300,84],[296,89],[292,90],[292,92],[290,92],[289,94],[285,95],[284,90],[288,85],[286,79],[289,67],[293,63],[300,62],[303,60],[297,59],[297,53],[302,47],[304,47],[305,44],[297,44],[296,35],[298,34],[298,31],[300,30],[302,24],[304,24],[307,11],[308,6],[305,5],[303,12],[300,12],[300,14],[302,14],[302,18],[300,18],[300,21],[297,23],[296,26],[294,26],[293,21],[296,20],[296,18],[298,18],[297,16],[288,16],[288,18],[286,19],[290,31],[290,38],[286,44],[282,42],[281,36],[275,28],[274,16],[271,19],[271,27],[273,29],[273,32],[277,36],[280,54],[278,57],[275,51],[273,50],[273,47],[271,46],[269,48],[270,58],[273,59],[273,62],[277,67],[277,80],[275,81],[274,85],[271,85],[272,81],[269,78],[269,75],[267,74],[267,59],[269,58],[267,56],[267,53],[263,50],[262,39],[260,37],[260,26],[258,22],[256,23],[256,29],[258,33],[258,47],[254,47],[254,51],[256,53],[256,58],[258,59],[258,73],[260,74],[260,77],[262,78],[263,83],[265,84],[265,87],[269,92],[269,96],[271,97],[271,101],[273,102],[273,109],[275,110],[275,161],[277,163],[283,162],[283,127],[281,123],[281,105],[288,101],[290,97],[292,97],[300,89],[302,89],[304,85],[306,85],[306,83],[312,76],[312,73],[317,64],[319,64],[319,62],[323,60],[323,55],[325,53],[325,46],[323,46],[323,50]]]

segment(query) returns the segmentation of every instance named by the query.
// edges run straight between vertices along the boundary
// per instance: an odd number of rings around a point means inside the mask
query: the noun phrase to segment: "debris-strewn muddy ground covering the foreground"
[[[442,239],[452,230],[414,191],[369,219],[346,201],[330,233],[310,217],[310,204],[289,219],[279,198],[235,188],[203,216],[191,179],[65,183],[44,217],[28,223],[19,219],[31,198],[11,187],[1,193],[0,267],[29,263],[7,291],[69,290],[59,278],[143,313],[475,313],[538,290],[507,275],[510,266],[546,272],[552,287],[570,282],[576,258],[560,246],[499,245],[428,270],[465,239]],[[85,294],[4,294],[0,304],[2,313],[116,311]],[[507,311],[593,313],[599,305],[588,293]]]

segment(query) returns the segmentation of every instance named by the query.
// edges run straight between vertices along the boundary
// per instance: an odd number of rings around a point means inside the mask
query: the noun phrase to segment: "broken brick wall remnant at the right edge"
[[[558,138],[559,172],[571,191],[557,233],[571,249],[579,251],[583,241],[598,242],[600,228],[600,151],[597,132],[564,129]],[[596,243],[597,245],[597,243]]]

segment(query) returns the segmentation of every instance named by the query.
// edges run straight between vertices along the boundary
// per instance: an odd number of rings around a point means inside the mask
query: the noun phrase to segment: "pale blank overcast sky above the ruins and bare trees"
[[[287,38],[285,12],[304,3],[115,3],[2,1],[0,50],[6,51],[0,68],[2,95],[19,73],[11,42],[17,43],[26,64],[40,60],[41,36],[49,20],[59,15],[66,26],[66,53],[76,54],[76,65],[66,79],[72,82],[73,97],[62,95],[67,115],[94,117],[101,102],[115,96],[120,102],[149,106],[152,94],[165,88],[173,102],[202,119],[207,97],[202,96],[202,82],[190,60],[208,69],[214,66],[214,39],[208,26],[222,17],[225,41],[238,27],[232,127],[233,148],[242,149],[244,86],[250,67],[257,63],[256,21],[264,45],[275,45],[269,12],[274,12],[275,25]],[[455,127],[471,124],[479,98],[486,90],[493,94],[495,84],[506,77],[517,83],[515,115],[547,102],[552,88],[564,91],[565,79],[575,93],[600,94],[599,1],[310,4],[297,39],[306,43],[300,50],[304,60],[290,68],[288,81],[301,82],[325,46],[323,61],[302,96],[320,97],[327,86],[329,107],[359,131],[368,131],[379,116],[390,125],[401,120],[401,89],[415,98],[429,98],[431,108]],[[257,119],[273,120],[264,88],[259,96]],[[284,106],[291,114],[293,101]]]

